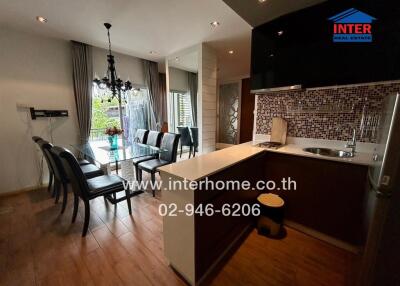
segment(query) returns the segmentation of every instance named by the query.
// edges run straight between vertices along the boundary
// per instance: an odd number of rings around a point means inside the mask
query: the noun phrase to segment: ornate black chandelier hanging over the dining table
[[[132,83],[129,80],[124,82],[117,76],[114,56],[112,55],[111,52],[111,40],[110,40],[111,24],[104,23],[104,26],[107,29],[107,36],[108,36],[108,55],[107,55],[108,69],[106,75],[102,79],[95,78],[93,82],[100,90],[104,91],[105,97],[108,97],[106,98],[108,102],[111,102],[114,98],[116,98],[118,100],[118,103],[121,104],[122,101],[126,102],[126,93],[132,90],[133,87]],[[101,102],[103,101],[104,99],[101,100]]]

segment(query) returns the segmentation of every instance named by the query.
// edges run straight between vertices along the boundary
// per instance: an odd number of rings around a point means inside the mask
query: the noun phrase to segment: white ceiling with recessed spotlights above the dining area
[[[37,22],[36,16],[46,17],[48,23]],[[218,28],[211,27],[214,20],[221,23]],[[107,47],[104,22],[113,25],[115,51],[162,62],[176,51],[208,42],[217,51],[221,78],[249,74],[251,26],[222,0],[0,2],[0,25],[103,48]],[[229,50],[235,54],[229,55]]]

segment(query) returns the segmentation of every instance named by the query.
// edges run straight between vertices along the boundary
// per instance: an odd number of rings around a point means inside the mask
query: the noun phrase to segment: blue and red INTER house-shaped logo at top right
[[[374,17],[351,8],[328,20],[333,24],[333,42],[335,43],[371,43],[372,22]]]

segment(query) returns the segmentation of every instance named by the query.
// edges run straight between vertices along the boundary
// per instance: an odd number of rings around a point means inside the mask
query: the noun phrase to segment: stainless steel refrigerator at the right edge
[[[360,285],[400,285],[400,95],[387,95],[369,169],[368,238]]]

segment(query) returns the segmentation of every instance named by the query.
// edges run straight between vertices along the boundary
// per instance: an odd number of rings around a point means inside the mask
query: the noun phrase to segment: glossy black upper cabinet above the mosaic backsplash
[[[400,5],[342,2],[327,1],[254,28],[252,90],[400,79]],[[376,19],[371,23],[371,43],[333,41],[335,22],[329,18],[350,8]]]

